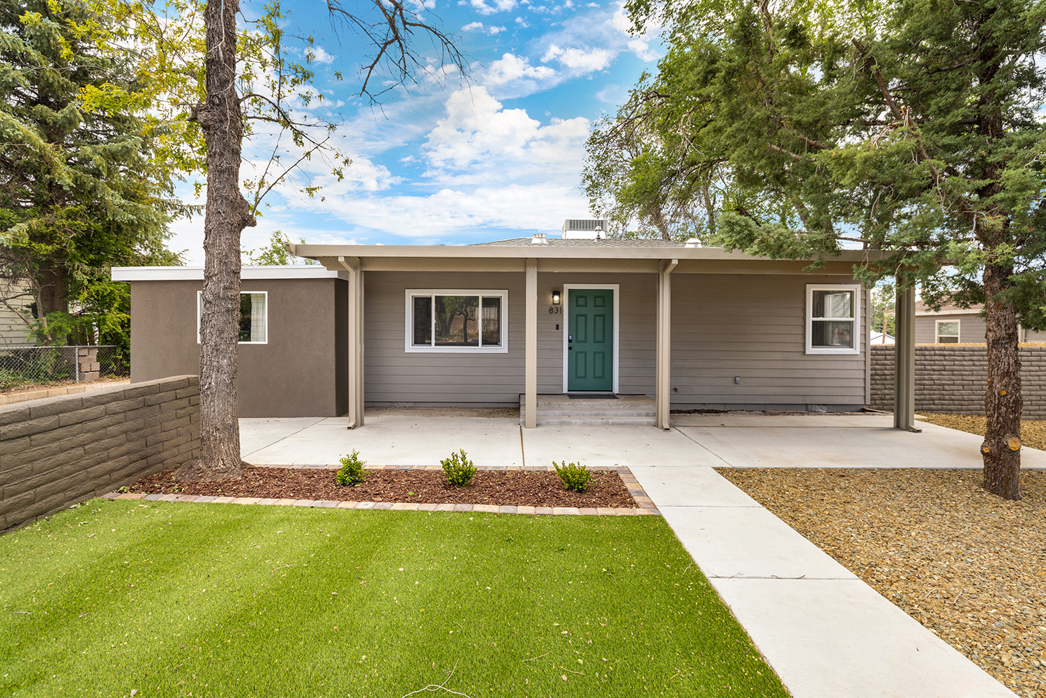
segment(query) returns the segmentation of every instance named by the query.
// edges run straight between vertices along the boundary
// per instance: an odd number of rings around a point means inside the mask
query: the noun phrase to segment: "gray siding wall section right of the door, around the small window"
[[[864,330],[860,354],[805,353],[806,285],[848,283],[840,276],[673,274],[673,407],[866,405]],[[861,296],[867,328],[867,293]]]

